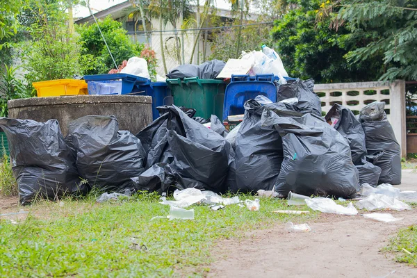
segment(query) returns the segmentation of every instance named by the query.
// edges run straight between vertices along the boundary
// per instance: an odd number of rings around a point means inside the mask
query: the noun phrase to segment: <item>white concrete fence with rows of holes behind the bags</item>
[[[354,113],[359,113],[366,104],[373,101],[385,101],[388,120],[401,146],[401,156],[407,156],[405,81],[316,84],[314,91],[319,95],[322,101],[322,111],[325,113],[335,103],[347,106]]]

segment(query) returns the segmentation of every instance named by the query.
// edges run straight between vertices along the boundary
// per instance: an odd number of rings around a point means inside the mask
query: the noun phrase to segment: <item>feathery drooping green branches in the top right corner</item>
[[[336,10],[336,12],[334,12]],[[368,42],[351,49],[351,65],[379,59],[386,67],[382,80],[417,79],[417,2],[410,0],[336,1],[322,7],[332,19],[332,27],[347,28],[352,36],[377,32]]]

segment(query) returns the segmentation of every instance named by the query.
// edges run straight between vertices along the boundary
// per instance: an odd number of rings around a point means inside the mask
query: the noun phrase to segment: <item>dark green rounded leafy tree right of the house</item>
[[[290,76],[313,78],[316,83],[373,81],[381,76],[384,66],[377,60],[354,64],[346,60],[350,51],[377,37],[377,31],[352,34],[347,24],[337,30],[329,28],[331,17],[316,20],[325,6],[321,0],[290,0],[288,5],[292,8],[275,22],[272,36]]]

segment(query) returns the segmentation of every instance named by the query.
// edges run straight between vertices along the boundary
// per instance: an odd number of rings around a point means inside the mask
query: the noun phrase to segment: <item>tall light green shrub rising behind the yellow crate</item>
[[[82,55],[78,39],[68,32],[65,5],[60,1],[33,0],[28,6],[35,19],[26,28],[31,40],[23,42],[22,52],[29,83],[72,78],[93,66],[92,56]]]

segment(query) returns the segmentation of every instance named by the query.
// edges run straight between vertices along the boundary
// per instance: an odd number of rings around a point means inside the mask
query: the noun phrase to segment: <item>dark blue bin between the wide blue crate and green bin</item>
[[[154,120],[160,116],[156,107],[173,104],[171,89],[168,88],[166,82],[151,82],[148,79],[146,83],[140,83],[137,87],[140,91],[138,95],[152,97],[152,116]]]

